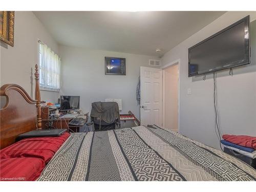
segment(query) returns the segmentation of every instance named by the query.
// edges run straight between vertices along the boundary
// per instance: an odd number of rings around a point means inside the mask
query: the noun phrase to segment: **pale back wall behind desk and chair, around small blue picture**
[[[154,56],[60,46],[62,95],[80,95],[80,108],[91,112],[91,103],[105,98],[122,99],[122,113],[132,111],[139,117],[136,85],[140,66],[148,66]],[[126,58],[126,75],[105,75],[104,57]]]

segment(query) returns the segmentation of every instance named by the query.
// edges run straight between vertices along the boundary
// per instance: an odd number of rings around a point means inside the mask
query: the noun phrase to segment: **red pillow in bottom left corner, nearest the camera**
[[[0,159],[0,178],[1,181],[34,181],[44,167],[45,162],[38,158]]]

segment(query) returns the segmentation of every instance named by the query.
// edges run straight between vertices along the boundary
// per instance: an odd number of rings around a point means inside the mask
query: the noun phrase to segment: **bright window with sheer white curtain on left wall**
[[[39,85],[42,90],[59,91],[60,58],[47,45],[39,44]]]

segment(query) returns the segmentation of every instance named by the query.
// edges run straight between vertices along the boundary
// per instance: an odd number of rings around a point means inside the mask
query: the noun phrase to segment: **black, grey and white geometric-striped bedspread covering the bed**
[[[157,127],[72,133],[37,181],[255,181],[222,151]]]

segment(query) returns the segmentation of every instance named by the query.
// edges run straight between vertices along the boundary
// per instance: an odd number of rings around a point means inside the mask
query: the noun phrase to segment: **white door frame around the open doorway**
[[[174,65],[178,65],[178,133],[180,132],[180,59],[174,60],[166,65],[162,66],[161,69],[163,70],[163,94],[162,94],[162,126],[165,127],[165,69],[172,67]]]

